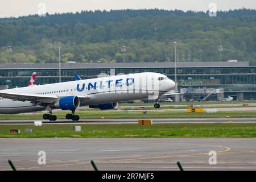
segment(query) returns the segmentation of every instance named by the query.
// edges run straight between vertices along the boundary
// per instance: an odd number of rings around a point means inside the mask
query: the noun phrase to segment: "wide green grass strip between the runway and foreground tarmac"
[[[31,137],[256,137],[256,123],[180,123],[139,126],[137,124],[91,125],[81,124],[82,131],[73,131],[74,125],[0,125],[0,138]],[[21,133],[9,133],[19,129]],[[24,133],[34,129],[34,133]]]

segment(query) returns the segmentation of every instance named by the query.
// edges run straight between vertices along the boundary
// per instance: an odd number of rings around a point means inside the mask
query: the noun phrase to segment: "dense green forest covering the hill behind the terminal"
[[[249,61],[256,10],[112,10],[0,19],[0,63]],[[125,51],[122,50],[125,46]],[[11,48],[10,48],[11,47]]]

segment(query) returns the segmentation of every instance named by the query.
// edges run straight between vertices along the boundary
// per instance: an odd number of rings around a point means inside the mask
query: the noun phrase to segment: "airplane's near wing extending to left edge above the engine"
[[[55,95],[38,95],[38,94],[24,94],[24,93],[11,93],[0,92],[0,97],[9,98],[15,101],[41,101],[44,103],[51,103],[59,98]]]

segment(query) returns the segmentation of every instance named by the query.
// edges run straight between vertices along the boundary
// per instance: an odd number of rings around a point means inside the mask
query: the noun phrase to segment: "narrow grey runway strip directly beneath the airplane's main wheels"
[[[147,118],[144,118],[147,119]],[[148,118],[153,123],[256,123],[256,118]],[[46,121],[46,120],[2,120],[0,125],[31,125],[34,121],[42,121],[44,124],[120,124],[138,123],[138,119],[81,119],[79,122],[71,120]]]

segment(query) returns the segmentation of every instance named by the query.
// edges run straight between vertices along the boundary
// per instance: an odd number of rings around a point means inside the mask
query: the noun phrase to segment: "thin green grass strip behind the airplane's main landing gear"
[[[65,119],[65,114],[68,111],[59,111],[54,114],[58,119]],[[226,115],[232,118],[250,118],[256,117],[256,111],[217,111],[217,113],[187,113],[187,111],[147,111],[143,114],[143,110],[138,111],[125,111],[125,110],[112,110],[112,111],[77,111],[76,114],[80,115],[81,119],[100,119],[104,118],[224,118]],[[8,119],[42,119],[43,113],[32,114],[0,114],[0,120]]]

